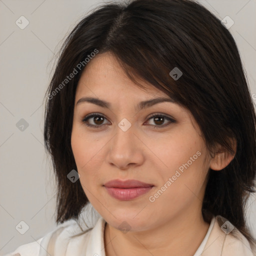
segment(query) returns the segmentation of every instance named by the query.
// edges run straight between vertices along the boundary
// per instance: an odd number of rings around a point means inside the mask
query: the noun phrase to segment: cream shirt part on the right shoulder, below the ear
[[[255,256],[256,248],[227,219],[217,215],[202,255]]]

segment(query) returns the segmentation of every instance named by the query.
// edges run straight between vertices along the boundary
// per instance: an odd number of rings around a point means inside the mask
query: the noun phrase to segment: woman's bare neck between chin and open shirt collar
[[[209,223],[201,214],[177,216],[162,226],[123,233],[110,226],[104,229],[106,256],[128,255],[193,255],[202,242]],[[196,234],[196,235],[195,235]]]

